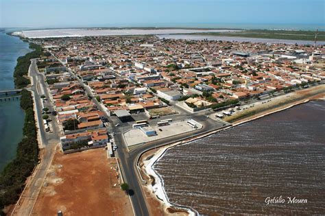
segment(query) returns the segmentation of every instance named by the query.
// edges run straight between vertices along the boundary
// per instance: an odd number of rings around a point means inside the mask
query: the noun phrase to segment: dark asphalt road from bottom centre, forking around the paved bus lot
[[[56,58],[56,56],[54,56],[54,57]],[[58,58],[56,58],[56,59],[59,62],[61,62]],[[110,117],[106,108],[102,104],[100,104],[97,101],[97,99],[95,99],[95,97],[94,97],[95,95],[93,95],[93,92],[91,91],[91,88],[89,86],[84,84],[84,82],[82,82],[82,80],[80,80],[80,78],[77,77],[77,75],[75,75],[75,73],[73,73],[73,71],[71,71],[71,69],[68,69],[68,71],[75,78],[75,80],[77,80],[80,83],[80,85],[84,88],[87,95],[93,97],[92,101],[97,105],[99,110],[104,112],[104,115],[106,116],[106,118],[109,119],[110,131],[116,132],[115,141],[116,141],[117,146],[119,147],[117,149],[117,156],[120,159],[123,179],[125,180],[125,182],[128,182],[130,189],[134,192],[133,195],[130,196],[130,198],[132,200],[132,205],[134,207],[134,213],[136,216],[149,215],[149,212],[147,209],[147,204],[145,202],[144,193],[142,191],[141,184],[139,183],[140,179],[138,178],[137,169],[136,169],[136,163],[137,163],[136,159],[138,158],[138,156],[140,154],[142,154],[143,152],[145,152],[149,149],[152,149],[154,147],[160,147],[163,145],[167,145],[169,143],[174,143],[177,140],[188,139],[191,136],[195,136],[198,134],[208,132],[210,130],[215,130],[217,128],[221,128],[223,126],[223,123],[209,119],[208,117],[206,117],[206,115],[203,115],[202,112],[200,112],[199,114],[197,114],[197,113],[190,114],[188,112],[185,112],[184,110],[180,110],[180,108],[174,107],[176,110],[178,110],[178,112],[180,112],[180,115],[178,115],[178,117],[177,117],[178,119],[193,118],[194,120],[202,123],[203,129],[196,130],[194,132],[188,132],[186,134],[180,134],[178,136],[172,136],[167,139],[160,139],[159,141],[153,141],[150,143],[146,143],[145,145],[142,145],[136,149],[133,149],[131,152],[129,152],[128,147],[122,138],[122,132],[123,132],[124,128],[123,127],[115,127],[115,123],[116,123],[115,121],[118,121],[118,120],[115,117]],[[170,117],[168,117],[168,118],[170,118]],[[114,119],[114,121],[112,121],[112,119]],[[159,121],[159,119],[155,119],[153,121]]]

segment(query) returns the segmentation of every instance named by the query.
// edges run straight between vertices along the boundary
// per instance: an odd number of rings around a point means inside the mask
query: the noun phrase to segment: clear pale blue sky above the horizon
[[[325,26],[325,0],[0,0],[0,27]],[[232,25],[231,25],[232,24]]]

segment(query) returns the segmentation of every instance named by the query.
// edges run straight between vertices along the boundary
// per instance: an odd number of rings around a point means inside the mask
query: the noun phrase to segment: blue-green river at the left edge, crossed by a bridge
[[[16,59],[27,52],[27,43],[0,32],[0,90],[14,88]],[[0,170],[16,155],[16,146],[23,136],[23,121],[19,100],[0,101]]]

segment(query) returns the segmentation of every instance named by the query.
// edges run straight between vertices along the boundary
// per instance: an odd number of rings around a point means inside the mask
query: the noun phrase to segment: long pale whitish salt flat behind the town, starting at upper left
[[[189,34],[200,32],[234,32],[229,29],[40,29],[15,32],[26,38],[60,38],[83,36],[148,35],[148,34]]]

